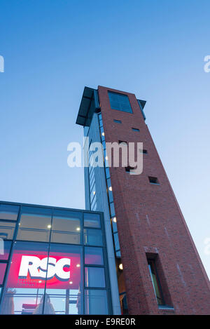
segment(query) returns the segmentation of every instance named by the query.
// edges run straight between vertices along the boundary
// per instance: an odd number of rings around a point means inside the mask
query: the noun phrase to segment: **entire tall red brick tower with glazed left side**
[[[104,212],[112,302],[117,281],[123,314],[210,314],[209,278],[145,123],[145,103],[85,87],[77,119],[89,146],[104,147],[104,168],[85,168],[85,202]],[[109,168],[106,142],[143,142],[141,175]]]

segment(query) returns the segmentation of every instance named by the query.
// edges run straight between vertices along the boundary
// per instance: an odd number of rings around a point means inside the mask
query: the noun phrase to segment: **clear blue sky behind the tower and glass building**
[[[83,168],[67,166],[83,88],[135,93],[210,277],[209,12],[203,0],[0,0],[0,199],[85,208]]]

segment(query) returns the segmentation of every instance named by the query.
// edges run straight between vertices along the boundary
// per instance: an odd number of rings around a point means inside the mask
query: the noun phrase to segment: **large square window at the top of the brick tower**
[[[109,91],[108,94],[111,109],[118,109],[118,111],[133,113],[130,100],[127,95],[113,93],[111,91]]]

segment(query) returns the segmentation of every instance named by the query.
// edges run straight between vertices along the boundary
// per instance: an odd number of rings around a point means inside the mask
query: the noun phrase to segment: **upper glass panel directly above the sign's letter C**
[[[82,213],[57,210],[52,218],[51,242],[80,244]]]

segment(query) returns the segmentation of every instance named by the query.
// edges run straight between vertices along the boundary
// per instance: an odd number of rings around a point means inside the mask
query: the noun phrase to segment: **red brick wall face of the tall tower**
[[[148,151],[141,175],[110,168],[130,314],[210,314],[209,279],[137,99],[111,88],[98,90],[106,142],[143,142]],[[133,114],[111,109],[108,90],[128,95]],[[148,176],[158,177],[160,185],[150,184]],[[158,254],[162,290],[174,311],[158,309],[146,259],[149,253]]]

